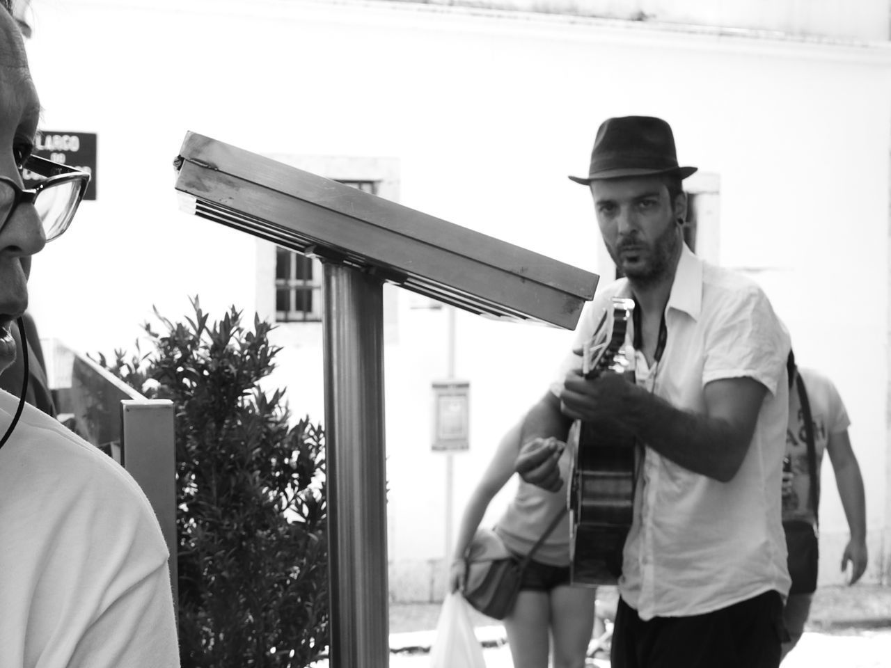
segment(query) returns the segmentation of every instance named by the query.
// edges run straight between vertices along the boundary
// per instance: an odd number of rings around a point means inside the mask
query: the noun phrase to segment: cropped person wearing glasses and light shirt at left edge
[[[0,5],[0,368],[6,368],[25,354],[17,352],[11,328],[28,306],[31,256],[67,229],[88,177],[31,157],[40,104],[10,2]],[[34,190],[22,188],[25,169],[45,179]],[[168,550],[133,478],[4,391],[0,433],[0,666],[178,666]]]

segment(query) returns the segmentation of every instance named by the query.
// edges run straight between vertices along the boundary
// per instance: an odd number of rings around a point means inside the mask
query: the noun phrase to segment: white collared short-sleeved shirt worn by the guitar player
[[[585,306],[573,346],[591,338],[619,280]],[[611,310],[611,309],[610,309]],[[727,483],[643,448],[634,519],[619,591],[642,619],[701,615],[764,591],[789,591],[781,524],[781,468],[789,411],[789,336],[756,283],[709,265],[684,247],[665,311],[666,346],[649,367],[634,351],[637,383],[682,411],[706,411],[704,388],[751,378],[768,392],[739,471]],[[629,327],[626,345],[634,341]],[[568,354],[552,391],[580,366]],[[715,448],[722,444],[715,443]]]

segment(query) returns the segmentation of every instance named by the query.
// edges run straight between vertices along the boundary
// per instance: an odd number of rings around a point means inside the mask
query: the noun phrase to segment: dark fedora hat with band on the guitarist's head
[[[570,176],[587,185],[597,179],[676,174],[685,179],[697,167],[679,167],[674,134],[661,118],[625,116],[601,123],[587,176]]]

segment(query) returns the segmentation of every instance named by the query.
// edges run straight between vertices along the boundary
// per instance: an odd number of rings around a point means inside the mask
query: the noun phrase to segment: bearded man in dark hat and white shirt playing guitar
[[[555,464],[575,420],[639,448],[613,668],[780,663],[789,337],[754,282],[684,244],[682,182],[695,171],[678,164],[660,118],[600,126],[588,175],[569,178],[589,187],[624,278],[585,307],[558,379],[527,413],[516,465],[527,482],[558,488]],[[633,374],[588,379],[580,351],[613,297],[634,300]]]

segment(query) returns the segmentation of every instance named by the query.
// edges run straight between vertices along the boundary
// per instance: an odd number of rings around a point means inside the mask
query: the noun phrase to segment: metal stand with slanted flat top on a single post
[[[598,277],[200,134],[176,168],[187,212],[323,260],[330,664],[388,665],[384,281],[572,329]]]

